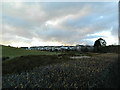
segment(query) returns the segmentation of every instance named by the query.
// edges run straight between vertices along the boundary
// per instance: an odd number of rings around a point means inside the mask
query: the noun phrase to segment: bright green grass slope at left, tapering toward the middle
[[[2,56],[3,57],[18,57],[18,56],[26,56],[26,55],[57,55],[57,52],[49,52],[49,51],[38,51],[38,50],[25,50],[21,48],[14,48],[8,46],[2,46]]]

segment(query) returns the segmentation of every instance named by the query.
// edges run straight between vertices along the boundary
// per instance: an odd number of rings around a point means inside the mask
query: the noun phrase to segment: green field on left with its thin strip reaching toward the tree
[[[9,47],[9,46],[2,46],[0,48],[2,51],[2,57],[9,57],[9,59],[13,59],[15,57],[20,56],[27,56],[27,55],[59,55],[59,54],[66,54],[66,55],[89,55],[94,56],[97,53],[80,53],[76,51],[68,51],[68,52],[60,52],[60,51],[39,51],[39,50],[25,50],[21,48]]]

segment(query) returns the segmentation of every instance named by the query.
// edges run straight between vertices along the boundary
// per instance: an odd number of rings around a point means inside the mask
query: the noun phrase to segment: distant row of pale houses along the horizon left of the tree
[[[27,50],[41,50],[41,51],[93,51],[93,46],[84,46],[84,45],[76,45],[76,46],[33,46],[33,47],[22,47]]]

